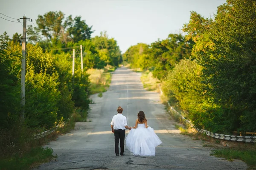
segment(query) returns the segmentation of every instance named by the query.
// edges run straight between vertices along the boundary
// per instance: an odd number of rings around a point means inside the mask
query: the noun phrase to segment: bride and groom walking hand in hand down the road
[[[121,152],[120,155],[124,156],[125,140],[128,150],[135,156],[155,156],[157,147],[161,144],[161,140],[154,133],[153,128],[147,125],[147,119],[143,111],[138,113],[138,119],[134,127],[128,127],[127,119],[122,115],[123,109],[121,106],[117,108],[117,114],[113,116],[111,121],[111,129],[115,135],[115,152],[119,156],[119,139]],[[125,128],[131,130],[125,139]]]

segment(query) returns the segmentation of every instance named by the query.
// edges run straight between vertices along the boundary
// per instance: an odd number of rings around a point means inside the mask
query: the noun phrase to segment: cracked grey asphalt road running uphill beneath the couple
[[[140,74],[122,67],[112,77],[109,90],[100,98],[92,95],[90,122],[76,123],[75,130],[45,147],[58,155],[35,168],[39,170],[245,170],[243,161],[227,161],[210,156],[210,148],[201,141],[179,134],[160,102],[160,95],[143,89]],[[144,111],[148,125],[162,140],[156,156],[133,156],[125,148],[125,156],[115,156],[114,135],[110,122],[116,108],[122,106],[128,126],[134,126],[137,113]],[[128,134],[126,131],[126,135]]]

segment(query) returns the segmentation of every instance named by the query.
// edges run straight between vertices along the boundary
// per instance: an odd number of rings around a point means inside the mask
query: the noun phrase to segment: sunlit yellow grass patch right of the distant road
[[[158,83],[160,83],[160,81],[157,78],[154,78],[150,71],[147,70],[143,72],[140,80],[147,91],[160,91],[158,88]]]

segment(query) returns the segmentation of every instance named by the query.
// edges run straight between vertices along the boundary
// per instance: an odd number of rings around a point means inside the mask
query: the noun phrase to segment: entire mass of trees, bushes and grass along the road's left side
[[[27,26],[25,107],[20,107],[21,34],[0,35],[0,169],[29,169],[54,159],[42,148],[58,134],[87,121],[90,94],[102,95],[111,81],[111,71],[122,62],[116,40],[106,32],[91,37],[92,26],[80,16],[64,17],[61,11],[38,15],[37,27]],[[83,65],[81,70],[80,45]],[[72,56],[75,49],[75,72]],[[98,74],[96,82],[90,71]],[[94,74],[94,72],[91,72]],[[25,110],[25,119],[20,118]],[[34,135],[66,122],[51,135]],[[17,162],[16,164],[14,162]],[[20,163],[23,162],[23,163]]]

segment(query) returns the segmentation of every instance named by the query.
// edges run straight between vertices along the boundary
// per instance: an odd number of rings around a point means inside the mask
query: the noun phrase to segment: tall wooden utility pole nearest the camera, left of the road
[[[24,121],[24,106],[25,106],[25,74],[26,74],[26,20],[27,18],[24,16],[23,18],[23,35],[22,35],[22,59],[21,59],[21,93],[20,93],[20,105],[21,105],[21,113],[20,119]]]

